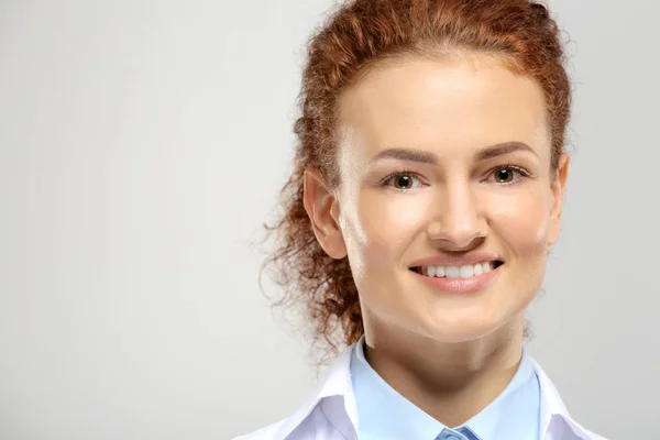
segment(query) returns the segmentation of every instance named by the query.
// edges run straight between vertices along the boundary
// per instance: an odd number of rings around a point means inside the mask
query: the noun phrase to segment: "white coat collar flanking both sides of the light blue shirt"
[[[326,380],[317,386],[308,400],[296,413],[279,425],[273,440],[286,440],[287,436],[302,424],[318,405],[323,405],[326,416],[346,439],[355,438],[358,411],[350,370],[351,352],[354,349],[355,344],[349,346],[333,362]],[[541,388],[540,439],[606,440],[573,420],[550,377],[536,361],[531,360],[531,363]]]

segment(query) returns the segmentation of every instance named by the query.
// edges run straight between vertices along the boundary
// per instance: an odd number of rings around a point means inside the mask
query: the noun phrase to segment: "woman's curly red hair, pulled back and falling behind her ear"
[[[455,52],[497,56],[507,68],[538,81],[557,169],[571,85],[560,31],[546,6],[529,0],[354,0],[340,6],[308,43],[294,169],[282,189],[282,216],[266,227],[276,244],[264,267],[275,267],[273,278],[283,287],[276,304],[301,306],[314,342],[326,342],[331,351],[363,334],[360,299],[348,258],[331,258],[316,240],[302,202],[304,173],[316,167],[329,186],[339,184],[336,103],[346,86],[387,59]]]

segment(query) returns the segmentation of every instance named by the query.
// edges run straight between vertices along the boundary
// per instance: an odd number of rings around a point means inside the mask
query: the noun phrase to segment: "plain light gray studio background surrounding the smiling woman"
[[[0,2],[1,439],[228,439],[305,398],[250,243],[329,4]],[[660,6],[550,4],[576,148],[531,353],[586,427],[654,439]]]

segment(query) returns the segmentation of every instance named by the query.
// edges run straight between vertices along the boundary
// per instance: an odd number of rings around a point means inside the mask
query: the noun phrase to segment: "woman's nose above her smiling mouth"
[[[447,251],[473,249],[487,233],[487,222],[477,195],[470,183],[453,182],[439,191],[432,220],[427,228],[430,240]]]

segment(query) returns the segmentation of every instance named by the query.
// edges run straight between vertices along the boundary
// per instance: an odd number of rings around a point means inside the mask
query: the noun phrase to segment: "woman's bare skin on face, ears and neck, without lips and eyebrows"
[[[428,414],[458,425],[515,373],[524,312],[559,234],[568,156],[551,169],[542,89],[492,57],[408,57],[344,89],[338,116],[339,187],[306,174],[317,239],[332,257],[348,255],[370,364]],[[505,142],[531,151],[476,158]],[[374,160],[393,147],[436,163]],[[504,262],[474,294],[440,292],[410,271],[421,258],[471,252]]]

